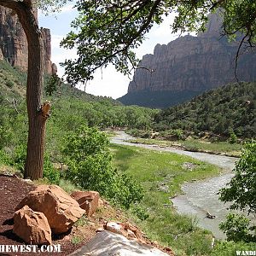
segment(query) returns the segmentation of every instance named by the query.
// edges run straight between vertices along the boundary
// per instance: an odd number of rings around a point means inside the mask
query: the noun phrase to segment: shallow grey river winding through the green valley
[[[161,148],[156,145],[127,142],[127,140],[132,138],[134,137],[126,134],[124,131],[116,131],[116,136],[111,138],[111,143],[188,155],[227,171],[218,177],[211,177],[193,183],[184,183],[182,186],[184,195],[178,195],[172,199],[173,207],[176,207],[177,212],[196,218],[198,226],[206,230],[211,230],[216,238],[223,239],[225,236],[218,229],[218,224],[224,220],[228,211],[226,210],[227,205],[218,201],[217,193],[219,189],[223,188],[230,181],[232,177],[230,171],[234,168],[235,162],[238,159],[225,155],[190,152],[178,148]],[[206,218],[206,212],[210,212],[216,218]]]

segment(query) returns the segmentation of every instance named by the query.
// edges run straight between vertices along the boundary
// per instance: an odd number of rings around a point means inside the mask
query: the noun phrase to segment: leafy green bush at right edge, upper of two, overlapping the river
[[[234,172],[229,187],[220,190],[220,200],[231,201],[230,209],[247,210],[255,214],[256,141],[245,143]]]

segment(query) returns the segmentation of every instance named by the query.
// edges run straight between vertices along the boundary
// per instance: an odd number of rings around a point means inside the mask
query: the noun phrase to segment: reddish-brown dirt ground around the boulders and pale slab
[[[1,245],[26,245],[13,233],[15,207],[36,186],[18,178],[0,174],[0,247]],[[131,221],[119,209],[111,207],[108,201],[102,201],[92,217],[82,217],[73,225],[72,230],[66,234],[53,236],[53,244],[61,246],[61,253],[1,253],[0,256],[67,256],[96,236],[96,230],[102,230],[108,221],[115,220],[123,224],[131,224]],[[143,243],[153,245],[148,238]],[[38,246],[39,247],[39,246]],[[173,255],[171,249],[159,247],[165,253]]]

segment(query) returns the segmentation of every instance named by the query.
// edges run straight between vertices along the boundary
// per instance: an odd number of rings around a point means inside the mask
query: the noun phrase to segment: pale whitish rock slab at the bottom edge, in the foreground
[[[98,233],[86,245],[69,256],[168,256],[159,249],[128,240],[109,231]]]

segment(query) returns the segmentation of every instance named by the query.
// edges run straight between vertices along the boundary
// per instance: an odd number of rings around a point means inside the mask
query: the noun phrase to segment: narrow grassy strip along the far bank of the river
[[[219,142],[219,143],[209,143],[204,141],[199,141],[195,139],[189,140],[179,140],[176,142],[170,141],[161,141],[156,139],[145,139],[145,138],[136,138],[129,141],[130,143],[143,143],[143,144],[154,144],[163,147],[181,147],[189,151],[200,151],[207,152],[212,154],[226,154],[229,156],[239,157],[241,154],[242,144],[238,143],[228,143],[228,142]]]

